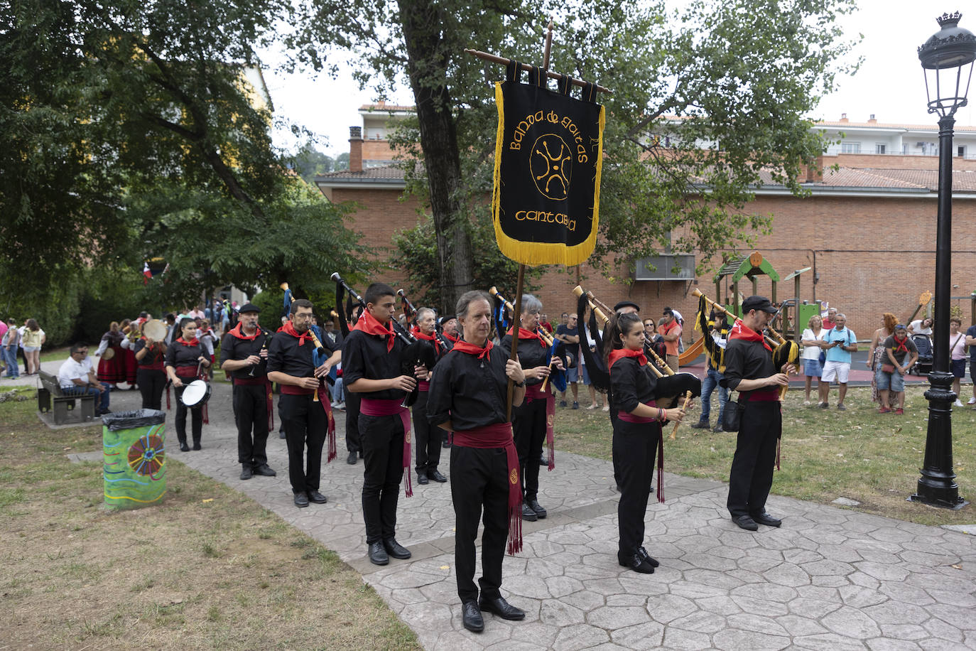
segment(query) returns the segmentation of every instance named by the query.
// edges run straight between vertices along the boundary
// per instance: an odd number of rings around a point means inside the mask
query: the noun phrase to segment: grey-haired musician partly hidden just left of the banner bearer
[[[403,301],[409,303],[402,294],[403,290],[400,292]],[[434,365],[453,346],[440,337],[434,329],[436,315],[432,309],[421,307],[415,311],[414,315],[414,322],[417,325],[413,327],[411,332],[421,342],[420,346],[424,350],[422,354],[426,361],[423,365],[427,367],[428,371],[432,371]],[[447,481],[447,477],[437,469],[437,464],[440,463],[441,430],[439,427],[431,427],[427,423],[427,392],[429,389],[430,383],[427,380],[421,380],[417,383],[417,402],[413,406],[414,430],[416,432],[414,440],[417,442],[417,483],[419,484],[426,484],[430,479],[438,483]]]

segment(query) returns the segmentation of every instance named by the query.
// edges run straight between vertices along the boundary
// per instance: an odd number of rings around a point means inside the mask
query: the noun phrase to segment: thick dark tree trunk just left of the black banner
[[[450,313],[458,297],[473,286],[471,237],[460,199],[461,157],[447,87],[451,53],[443,51],[443,20],[436,5],[425,0],[399,0],[398,5],[437,234],[439,306],[442,313]],[[440,57],[432,56],[438,52]]]

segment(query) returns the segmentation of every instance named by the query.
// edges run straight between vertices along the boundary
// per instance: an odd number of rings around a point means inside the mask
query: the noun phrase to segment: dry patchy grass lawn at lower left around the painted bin
[[[179,462],[162,504],[104,509],[101,463],[65,457],[101,426],[48,429],[20,395],[0,402],[3,648],[420,648],[335,553]]]

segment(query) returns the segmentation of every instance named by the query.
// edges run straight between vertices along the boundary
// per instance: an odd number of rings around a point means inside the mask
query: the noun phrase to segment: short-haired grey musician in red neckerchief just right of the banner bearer
[[[501,298],[497,296],[497,292],[492,293],[496,298]],[[552,375],[551,365],[554,365],[558,371],[564,371],[569,365],[567,359],[552,355],[550,346],[547,346],[537,330],[542,308],[543,304],[533,295],[522,296],[517,355],[519,364],[525,369],[525,401],[513,410],[511,419],[523,482],[522,517],[530,522],[544,518],[548,514],[538,500],[539,467],[543,441],[549,440],[551,448],[551,419],[555,412],[555,399],[551,388],[544,385],[548,384],[546,381]],[[502,348],[507,355],[511,353],[513,331],[514,325],[502,338]],[[550,468],[552,468],[552,461],[550,450]]]

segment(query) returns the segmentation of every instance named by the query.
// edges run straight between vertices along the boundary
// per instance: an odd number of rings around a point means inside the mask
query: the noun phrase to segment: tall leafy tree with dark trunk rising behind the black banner
[[[409,80],[416,152],[436,238],[437,292],[450,305],[473,284],[468,216],[490,187],[503,70],[465,48],[541,62],[543,17],[557,17],[551,67],[612,87],[607,106],[600,244],[608,269],[661,249],[706,259],[768,224],[747,203],[768,178],[801,193],[799,170],[823,143],[807,115],[834,88],[848,51],[838,15],[852,0],[316,0],[293,37],[298,61],[337,70],[352,50],[363,85]],[[706,143],[705,148],[702,144]],[[414,169],[412,166],[411,170]],[[703,192],[704,186],[709,192]]]

